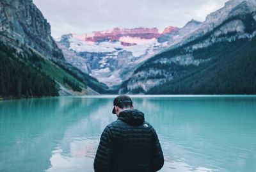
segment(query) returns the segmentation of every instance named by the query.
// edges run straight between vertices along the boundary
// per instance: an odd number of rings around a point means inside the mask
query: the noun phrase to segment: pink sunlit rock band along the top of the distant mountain
[[[152,39],[159,38],[159,36],[164,35],[166,33],[170,33],[172,31],[177,30],[178,27],[169,26],[164,29],[163,33],[159,33],[156,27],[147,28],[147,27],[139,27],[134,29],[126,29],[126,28],[114,28],[109,31],[95,31],[92,35],[86,35],[85,41],[89,42],[104,42],[110,41],[115,42],[118,41],[123,36],[137,37],[141,39]],[[133,45],[131,43],[122,42],[123,45],[129,46]]]

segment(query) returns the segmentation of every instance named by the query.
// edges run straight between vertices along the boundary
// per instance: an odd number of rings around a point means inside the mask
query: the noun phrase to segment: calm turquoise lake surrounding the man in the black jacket
[[[0,101],[0,171],[93,171],[113,97]],[[138,96],[163,172],[255,172],[256,96]]]

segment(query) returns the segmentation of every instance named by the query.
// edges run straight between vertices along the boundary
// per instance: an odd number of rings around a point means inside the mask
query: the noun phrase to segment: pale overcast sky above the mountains
[[[54,38],[114,27],[184,26],[204,21],[227,0],[33,0],[51,24]]]

